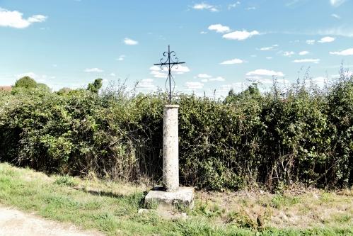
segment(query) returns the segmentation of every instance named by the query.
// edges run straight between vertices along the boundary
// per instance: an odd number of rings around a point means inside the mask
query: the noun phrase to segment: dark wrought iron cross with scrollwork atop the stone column
[[[175,57],[175,52],[174,51],[170,52],[169,45],[168,45],[168,52],[164,52],[163,57],[160,60],[161,63],[154,64],[154,65],[161,66],[161,69],[163,69],[163,67],[166,67],[168,69],[168,77],[166,79],[166,90],[169,93],[169,103],[172,103],[172,94],[175,88],[175,81],[173,79],[172,69],[175,65],[176,65],[176,68],[178,68],[179,64],[185,64],[185,62],[179,62],[178,57]],[[173,90],[172,90],[172,81],[173,81]],[[168,82],[169,82],[169,89],[167,87]]]

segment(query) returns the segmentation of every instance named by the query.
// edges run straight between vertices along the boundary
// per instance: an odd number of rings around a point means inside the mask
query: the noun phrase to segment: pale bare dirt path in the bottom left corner
[[[30,213],[0,206],[0,236],[100,236],[74,225],[46,220]]]

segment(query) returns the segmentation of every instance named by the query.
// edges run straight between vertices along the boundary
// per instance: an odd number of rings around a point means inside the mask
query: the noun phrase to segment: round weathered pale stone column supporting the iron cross
[[[178,105],[163,111],[163,185],[167,192],[179,189]]]

